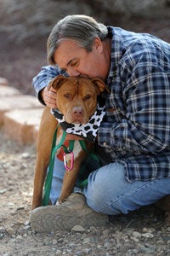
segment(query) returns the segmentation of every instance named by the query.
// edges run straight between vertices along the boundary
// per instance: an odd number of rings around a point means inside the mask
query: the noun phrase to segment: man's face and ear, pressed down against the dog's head
[[[106,79],[108,64],[105,61],[103,44],[96,38],[93,49],[88,52],[76,41],[65,39],[54,52],[54,61],[69,76]]]

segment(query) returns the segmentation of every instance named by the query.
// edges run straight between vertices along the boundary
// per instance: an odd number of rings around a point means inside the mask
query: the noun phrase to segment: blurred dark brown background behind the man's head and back
[[[170,0],[0,0],[0,77],[34,95],[31,80],[48,65],[48,34],[60,18],[74,14],[170,43]]]

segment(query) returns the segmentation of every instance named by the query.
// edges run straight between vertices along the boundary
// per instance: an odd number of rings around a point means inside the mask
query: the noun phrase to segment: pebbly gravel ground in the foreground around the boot
[[[108,227],[43,234],[29,214],[36,160],[34,146],[8,140],[0,131],[0,255],[170,255],[170,226],[154,206],[111,217]]]

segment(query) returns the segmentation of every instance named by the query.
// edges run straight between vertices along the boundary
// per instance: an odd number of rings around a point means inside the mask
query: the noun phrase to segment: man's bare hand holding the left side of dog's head
[[[49,108],[57,108],[57,93],[53,87],[50,90],[47,87],[42,90],[42,99]]]

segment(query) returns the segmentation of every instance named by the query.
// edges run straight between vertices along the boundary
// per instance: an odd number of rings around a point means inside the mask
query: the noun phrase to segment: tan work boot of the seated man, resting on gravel
[[[83,228],[109,224],[109,217],[94,212],[86,204],[85,197],[72,193],[59,206],[38,207],[31,212],[31,228],[40,232],[71,230],[75,225]]]

